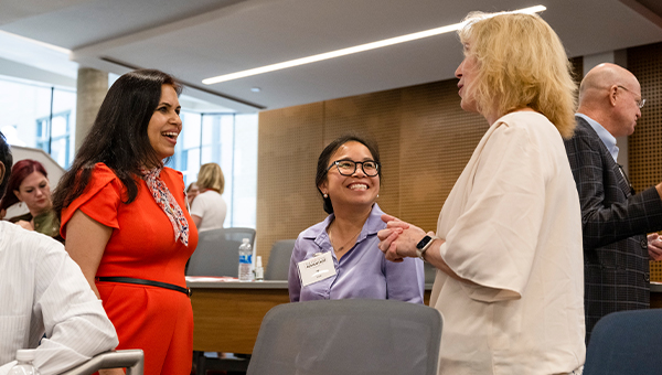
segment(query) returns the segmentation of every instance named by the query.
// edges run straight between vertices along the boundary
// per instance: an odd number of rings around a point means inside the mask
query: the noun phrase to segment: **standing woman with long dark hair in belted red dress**
[[[184,266],[197,245],[182,174],[163,167],[182,130],[181,86],[159,71],[110,87],[55,191],[62,236],[145,374],[188,374],[193,311]],[[119,374],[121,371],[110,371]]]

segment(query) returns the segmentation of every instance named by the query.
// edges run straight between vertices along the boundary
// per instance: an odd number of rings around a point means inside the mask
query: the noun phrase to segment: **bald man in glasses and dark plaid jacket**
[[[662,258],[662,239],[647,240],[662,229],[662,183],[634,194],[616,162],[616,137],[634,131],[643,103],[632,73],[596,66],[581,82],[577,128],[565,142],[581,203],[587,343],[604,315],[649,308],[649,259]]]

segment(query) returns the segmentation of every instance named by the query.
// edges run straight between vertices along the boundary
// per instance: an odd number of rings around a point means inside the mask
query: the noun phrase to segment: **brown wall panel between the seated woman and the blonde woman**
[[[402,218],[436,231],[441,206],[488,122],[460,108],[457,79],[404,89],[401,127]]]

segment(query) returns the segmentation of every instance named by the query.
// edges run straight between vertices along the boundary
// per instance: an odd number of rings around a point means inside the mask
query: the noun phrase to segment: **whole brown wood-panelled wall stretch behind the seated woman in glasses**
[[[434,231],[439,211],[487,121],[460,108],[457,79],[263,111],[259,115],[256,253],[296,238],[327,215],[314,185],[317,159],[353,131],[373,137],[383,164],[377,203]]]

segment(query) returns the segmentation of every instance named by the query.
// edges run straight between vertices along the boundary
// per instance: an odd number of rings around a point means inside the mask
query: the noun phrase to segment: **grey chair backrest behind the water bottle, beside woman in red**
[[[200,232],[197,247],[189,259],[186,276],[238,277],[239,245],[255,242],[253,228],[218,228]]]

